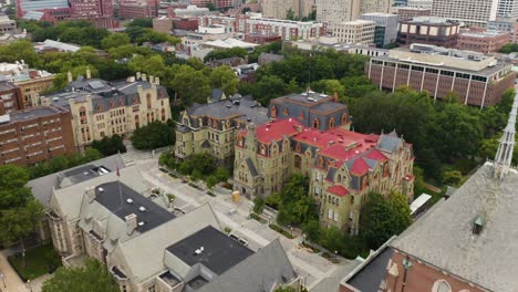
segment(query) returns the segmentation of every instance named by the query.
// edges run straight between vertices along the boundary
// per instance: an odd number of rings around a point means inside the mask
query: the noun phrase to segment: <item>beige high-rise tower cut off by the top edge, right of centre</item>
[[[356,20],[360,0],[317,0],[317,21],[334,23]]]

